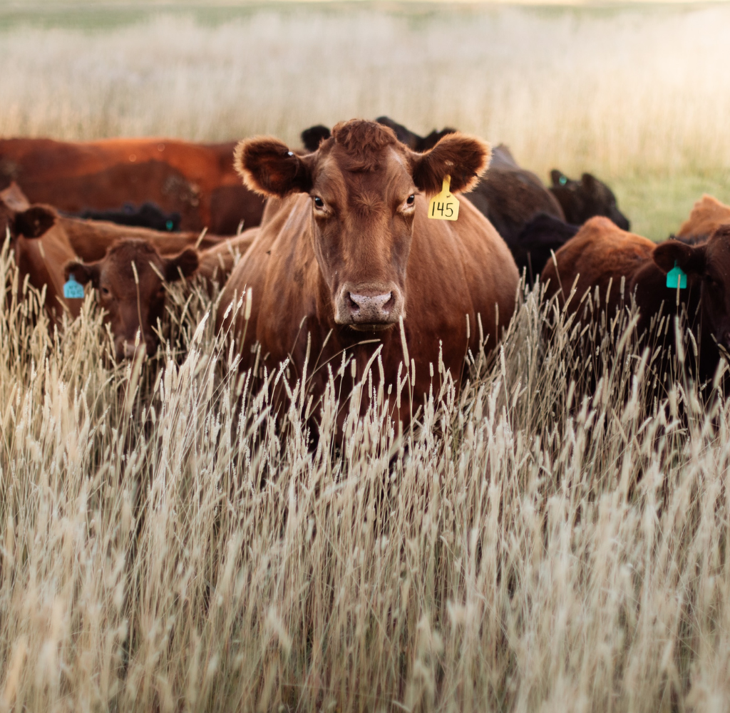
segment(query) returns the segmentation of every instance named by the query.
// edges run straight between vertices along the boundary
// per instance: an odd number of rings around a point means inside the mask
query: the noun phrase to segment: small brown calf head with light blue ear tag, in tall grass
[[[73,275],[80,284],[91,282],[97,290],[121,360],[134,356],[138,331],[139,348],[153,355],[158,344],[154,328],[165,307],[164,281],[188,277],[197,267],[198,253],[191,248],[174,258],[164,258],[147,240],[123,238],[99,261],[66,263],[64,278]]]

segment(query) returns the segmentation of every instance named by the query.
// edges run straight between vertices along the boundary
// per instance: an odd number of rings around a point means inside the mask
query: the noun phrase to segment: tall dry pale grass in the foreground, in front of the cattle
[[[3,253],[1,709],[726,708],[730,406],[653,401],[630,324],[589,367],[527,290],[413,431],[374,365],[338,450],[334,390],[315,447],[302,398],[275,423],[203,290],[114,366],[91,299],[51,338],[14,275]]]

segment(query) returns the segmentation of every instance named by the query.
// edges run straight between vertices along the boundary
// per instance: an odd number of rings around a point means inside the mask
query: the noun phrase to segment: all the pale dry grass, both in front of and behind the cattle
[[[387,113],[595,171],[655,238],[730,198],[723,5],[54,12],[0,6],[1,134],[296,145]],[[351,412],[338,450],[330,395],[310,450],[303,398],[250,393],[196,285],[157,358],[115,365],[91,296],[49,336],[14,280],[6,247],[0,711],[728,709],[723,374],[653,401],[630,325],[583,361],[524,290],[415,428]]]

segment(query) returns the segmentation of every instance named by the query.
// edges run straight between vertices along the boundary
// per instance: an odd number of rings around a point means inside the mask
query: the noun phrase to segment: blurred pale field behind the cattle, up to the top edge
[[[0,4],[0,134],[196,140],[387,114],[615,188],[633,228],[730,200],[730,7]]]

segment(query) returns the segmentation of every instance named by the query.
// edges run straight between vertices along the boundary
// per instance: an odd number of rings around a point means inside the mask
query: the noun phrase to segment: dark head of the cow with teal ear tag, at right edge
[[[730,226],[721,226],[699,245],[667,240],[656,246],[653,258],[663,272],[676,264],[702,280],[703,323],[715,341],[730,350]]]

